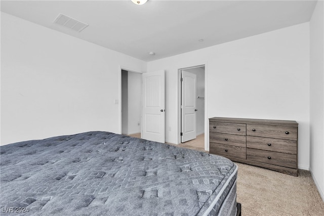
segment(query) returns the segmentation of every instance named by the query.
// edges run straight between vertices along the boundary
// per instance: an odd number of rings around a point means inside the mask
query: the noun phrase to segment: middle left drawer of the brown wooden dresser
[[[230,146],[246,147],[246,136],[211,132],[209,134],[209,141],[212,143],[220,143]]]

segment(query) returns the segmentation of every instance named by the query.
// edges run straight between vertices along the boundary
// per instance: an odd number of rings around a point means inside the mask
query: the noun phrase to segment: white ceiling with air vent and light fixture
[[[152,61],[308,22],[316,1],[1,1],[1,11]],[[62,13],[89,24],[54,24]],[[199,42],[199,39],[204,39]],[[154,52],[154,56],[148,53]]]

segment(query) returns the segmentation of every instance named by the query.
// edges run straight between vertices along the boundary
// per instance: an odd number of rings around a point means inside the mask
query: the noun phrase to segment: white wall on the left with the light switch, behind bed
[[[1,145],[119,133],[120,65],[144,61],[1,13]]]

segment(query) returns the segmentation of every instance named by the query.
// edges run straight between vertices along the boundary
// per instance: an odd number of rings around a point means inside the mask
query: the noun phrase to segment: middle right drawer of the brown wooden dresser
[[[297,141],[247,136],[247,148],[297,154]]]

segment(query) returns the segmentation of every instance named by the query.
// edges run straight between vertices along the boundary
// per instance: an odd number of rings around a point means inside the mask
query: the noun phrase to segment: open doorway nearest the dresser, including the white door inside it
[[[205,148],[205,65],[180,69],[179,72],[182,78],[179,98],[180,142]]]

